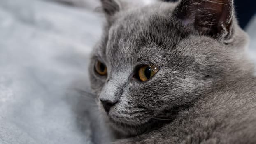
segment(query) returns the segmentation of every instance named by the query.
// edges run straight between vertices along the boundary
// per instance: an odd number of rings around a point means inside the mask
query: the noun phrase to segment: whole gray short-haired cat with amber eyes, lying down
[[[90,80],[116,144],[256,144],[256,77],[232,0],[101,2]]]

